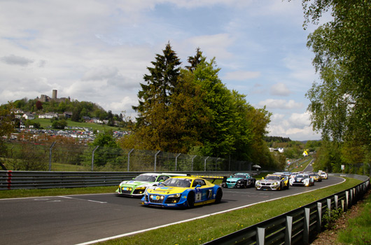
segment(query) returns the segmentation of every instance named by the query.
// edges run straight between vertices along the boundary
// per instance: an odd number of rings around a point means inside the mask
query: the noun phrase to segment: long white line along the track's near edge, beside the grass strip
[[[343,181],[341,183],[344,183],[345,179],[344,178],[342,178],[342,179],[343,179]],[[339,185],[341,183],[336,183],[336,184],[333,184],[331,186],[336,186],[336,185]],[[323,188],[328,188],[328,187],[330,187],[330,186],[321,187],[321,188],[318,188],[318,189],[315,189],[315,190],[321,190]],[[310,193],[311,191],[314,191],[314,190],[308,190],[308,191],[305,191],[304,193]],[[297,193],[297,194],[288,195],[288,196],[285,196],[285,197],[291,197],[291,196],[300,195],[300,194],[303,194],[303,193]],[[176,225],[176,224],[185,223],[185,222],[188,222],[188,221],[195,221],[195,220],[198,220],[200,218],[207,218],[209,216],[214,216],[216,214],[223,214],[223,213],[227,213],[229,211],[234,211],[234,210],[237,210],[237,209],[244,209],[246,207],[250,207],[250,206],[253,206],[255,204],[261,204],[261,203],[264,203],[264,202],[279,200],[281,198],[284,198],[284,197],[278,197],[278,198],[274,198],[274,199],[267,200],[267,201],[262,201],[262,202],[255,202],[254,204],[248,204],[248,205],[237,207],[237,208],[234,208],[234,209],[228,209],[228,210],[220,211],[220,212],[217,212],[217,213],[214,213],[214,214],[207,214],[207,215],[199,216],[199,217],[196,217],[196,218],[190,218],[190,219],[185,220],[185,221],[178,221],[178,222],[174,222],[174,223],[170,223],[170,224],[166,224],[166,225],[160,225],[160,226],[157,226],[157,227],[154,227],[154,228],[148,228],[148,229],[145,229],[145,230],[138,230],[136,232],[129,232],[129,233],[121,234],[121,235],[116,235],[116,236],[113,236],[113,237],[106,237],[106,238],[97,239],[97,240],[94,240],[94,241],[87,241],[87,242],[83,242],[81,244],[76,244],[76,245],[95,244],[97,242],[108,241],[108,240],[117,239],[117,238],[120,238],[120,237],[132,236],[132,235],[136,235],[136,234],[139,234],[139,233],[142,233],[142,232],[148,232],[149,230],[156,230],[156,229],[159,229],[159,228],[165,228],[169,225]]]

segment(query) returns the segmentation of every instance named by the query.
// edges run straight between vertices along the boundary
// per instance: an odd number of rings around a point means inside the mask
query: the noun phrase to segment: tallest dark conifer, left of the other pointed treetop
[[[147,67],[149,74],[144,75],[141,90],[138,93],[139,106],[133,106],[138,112],[137,132],[146,137],[148,148],[166,151],[167,112],[169,101],[178,85],[181,62],[167,43],[163,55],[156,55],[154,67]]]

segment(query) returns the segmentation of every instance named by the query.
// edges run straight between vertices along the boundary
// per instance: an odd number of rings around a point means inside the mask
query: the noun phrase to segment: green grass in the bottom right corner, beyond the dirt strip
[[[346,244],[371,244],[371,195],[360,204],[363,209],[358,217],[348,221],[346,230],[341,230],[338,241]]]

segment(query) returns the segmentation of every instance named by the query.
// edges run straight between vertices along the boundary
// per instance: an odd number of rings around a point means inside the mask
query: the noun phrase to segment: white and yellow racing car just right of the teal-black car
[[[288,189],[288,176],[281,174],[268,174],[265,178],[255,182],[256,190],[283,190]]]

